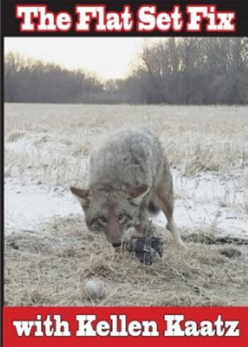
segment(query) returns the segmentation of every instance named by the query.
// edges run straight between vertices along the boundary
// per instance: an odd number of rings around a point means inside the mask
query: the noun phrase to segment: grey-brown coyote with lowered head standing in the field
[[[169,163],[157,136],[147,130],[124,129],[108,136],[93,151],[88,189],[70,188],[84,209],[91,231],[103,231],[113,247],[124,231],[135,228],[142,238],[149,212],[161,209],[167,229],[184,246],[173,219],[174,196]]]

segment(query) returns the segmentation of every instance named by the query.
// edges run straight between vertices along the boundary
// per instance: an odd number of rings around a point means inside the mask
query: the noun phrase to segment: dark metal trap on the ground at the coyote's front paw
[[[154,258],[161,258],[163,243],[161,238],[153,236],[154,226],[148,224],[145,237],[124,243],[124,248],[144,265],[152,265]]]

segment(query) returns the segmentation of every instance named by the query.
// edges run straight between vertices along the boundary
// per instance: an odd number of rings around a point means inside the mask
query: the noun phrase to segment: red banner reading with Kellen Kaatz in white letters
[[[4,347],[248,346],[244,307],[4,307]]]

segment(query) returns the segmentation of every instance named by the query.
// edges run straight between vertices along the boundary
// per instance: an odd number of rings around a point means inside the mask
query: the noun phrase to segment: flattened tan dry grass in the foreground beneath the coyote
[[[151,266],[127,251],[113,259],[103,235],[87,231],[81,217],[57,219],[40,234],[6,236],[6,305],[248,304],[248,246],[235,246],[237,252],[229,254],[230,246],[191,239],[182,251],[162,229],[157,233],[164,255]],[[87,295],[84,285],[92,278],[104,283],[105,297]]]

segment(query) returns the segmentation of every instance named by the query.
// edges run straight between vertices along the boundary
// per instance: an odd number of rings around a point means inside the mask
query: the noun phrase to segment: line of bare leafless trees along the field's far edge
[[[8,53],[6,102],[247,104],[248,38],[168,38],[144,45],[129,77],[101,81]]]

